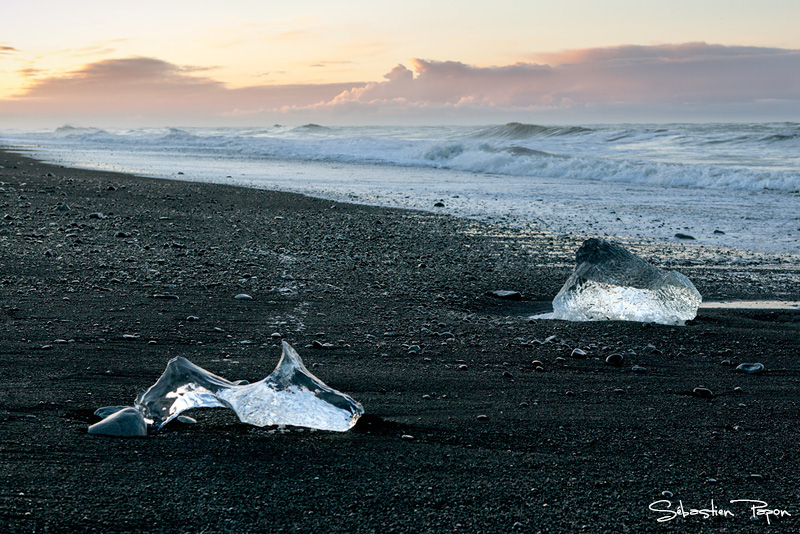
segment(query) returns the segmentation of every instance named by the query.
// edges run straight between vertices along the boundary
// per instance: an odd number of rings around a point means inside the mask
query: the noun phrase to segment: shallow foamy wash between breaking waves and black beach
[[[148,164],[143,167],[137,164],[142,156],[136,154],[122,152],[115,154],[118,159],[113,160],[104,160],[102,154],[92,151],[76,154],[62,153],[58,157],[52,154],[44,159],[69,166],[79,162],[83,155],[89,161],[104,162],[100,167],[121,168],[121,172],[147,168],[149,172],[140,175],[152,178],[189,181],[191,176],[197,183],[281,190],[332,202],[422,210],[559,235],[585,231],[587,238],[650,243],[654,247],[699,246],[708,252],[704,256],[707,262],[721,254],[733,253],[793,255],[800,263],[797,253],[800,241],[797,233],[787,227],[787,219],[795,211],[797,192],[775,195],[769,191],[504,175],[501,181],[505,185],[486,194],[473,183],[476,175],[458,169],[281,159],[197,159],[188,154],[145,156]],[[399,175],[403,176],[404,185],[396,184]],[[301,179],[298,181],[296,176]],[[491,179],[491,174],[478,178]],[[520,197],[518,191],[525,193]],[[698,195],[704,200],[698,201]],[[439,207],[435,207],[437,204]]]

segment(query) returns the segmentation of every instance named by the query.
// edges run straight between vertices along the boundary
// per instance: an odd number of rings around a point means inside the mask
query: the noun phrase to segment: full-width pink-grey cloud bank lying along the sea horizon
[[[369,83],[232,89],[153,58],[35,81],[0,117],[145,124],[800,121],[800,50],[686,43],[567,50],[477,67],[410,60]]]

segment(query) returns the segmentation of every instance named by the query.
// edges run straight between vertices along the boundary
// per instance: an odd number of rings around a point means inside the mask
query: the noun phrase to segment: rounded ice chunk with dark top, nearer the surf
[[[619,245],[588,239],[575,262],[553,299],[554,319],[682,325],[697,315],[702,297],[688,278],[663,271]]]

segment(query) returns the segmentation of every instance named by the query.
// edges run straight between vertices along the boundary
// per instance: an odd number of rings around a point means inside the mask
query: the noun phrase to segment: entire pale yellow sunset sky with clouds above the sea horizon
[[[800,121],[797,0],[26,0],[0,127]]]

